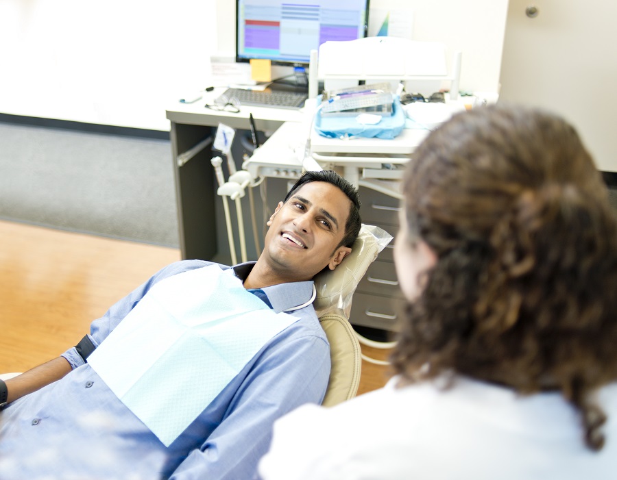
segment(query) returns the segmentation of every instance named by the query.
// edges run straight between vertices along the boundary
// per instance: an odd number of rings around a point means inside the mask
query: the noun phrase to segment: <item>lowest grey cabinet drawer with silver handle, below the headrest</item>
[[[404,311],[404,300],[356,292],[349,321],[382,330],[398,331],[398,318]]]

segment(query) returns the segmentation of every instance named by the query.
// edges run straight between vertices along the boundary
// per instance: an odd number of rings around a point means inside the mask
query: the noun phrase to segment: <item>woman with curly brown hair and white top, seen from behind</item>
[[[275,422],[261,477],[614,478],[617,221],[577,133],[536,110],[463,112],[403,190],[398,375]]]

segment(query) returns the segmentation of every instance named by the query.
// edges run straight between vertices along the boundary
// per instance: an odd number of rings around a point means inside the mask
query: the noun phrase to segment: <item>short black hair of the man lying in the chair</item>
[[[358,233],[360,232],[360,227],[362,226],[362,219],[360,218],[360,197],[358,195],[358,191],[352,184],[350,184],[350,182],[332,170],[305,172],[287,193],[285,203],[287,203],[287,200],[289,200],[295,192],[300,190],[302,186],[310,184],[311,181],[325,181],[328,184],[332,184],[339,188],[339,190],[346,194],[347,198],[350,199],[351,206],[349,209],[347,223],[345,224],[345,235],[343,236],[341,243],[337,245],[337,249],[343,245],[345,247],[351,247],[356,241],[356,238],[358,238]]]

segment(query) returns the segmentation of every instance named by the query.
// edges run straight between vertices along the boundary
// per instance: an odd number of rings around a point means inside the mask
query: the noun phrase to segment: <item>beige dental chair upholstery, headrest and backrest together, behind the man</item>
[[[349,312],[356,286],[378,253],[375,236],[363,226],[352,253],[335,270],[324,270],[315,277],[317,296],[313,306],[330,342],[332,362],[324,406],[352,399],[358,392],[361,351],[349,323]]]

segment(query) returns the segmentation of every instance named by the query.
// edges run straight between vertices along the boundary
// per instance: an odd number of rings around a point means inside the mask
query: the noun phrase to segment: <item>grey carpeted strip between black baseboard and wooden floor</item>
[[[170,142],[0,123],[0,218],[178,247]]]

